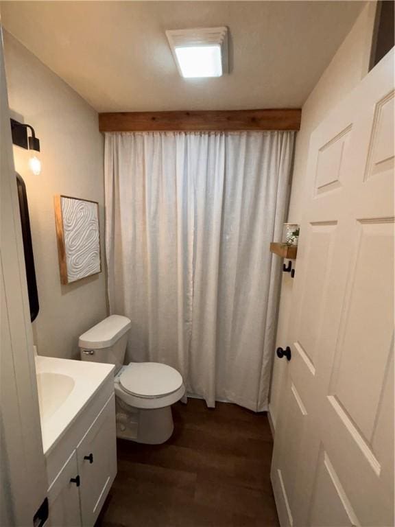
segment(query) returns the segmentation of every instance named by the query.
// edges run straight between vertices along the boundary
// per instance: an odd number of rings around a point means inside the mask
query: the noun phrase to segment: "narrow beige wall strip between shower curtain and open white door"
[[[302,122],[296,139],[294,174],[287,220],[290,223],[300,223],[301,220],[304,196],[306,196],[305,178],[311,132],[320,124],[328,111],[368,73],[375,8],[376,3],[373,1],[368,2],[363,8],[352,30],[302,107]],[[298,260],[296,260],[297,267]],[[281,286],[276,344],[281,347],[288,344],[288,327],[294,306],[292,298],[294,282],[288,273],[284,274],[286,276],[283,277]],[[286,364],[283,360],[274,359],[270,395],[270,415],[274,427],[278,418],[285,369]]]

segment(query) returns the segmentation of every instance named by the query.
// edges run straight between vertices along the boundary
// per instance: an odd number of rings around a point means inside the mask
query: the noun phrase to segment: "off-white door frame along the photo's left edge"
[[[47,495],[47,472],[1,25],[0,128],[0,524],[32,526],[33,517]]]

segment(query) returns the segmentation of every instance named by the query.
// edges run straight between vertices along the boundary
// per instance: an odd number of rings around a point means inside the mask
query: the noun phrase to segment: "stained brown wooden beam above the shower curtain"
[[[299,130],[300,109],[99,113],[101,132]]]

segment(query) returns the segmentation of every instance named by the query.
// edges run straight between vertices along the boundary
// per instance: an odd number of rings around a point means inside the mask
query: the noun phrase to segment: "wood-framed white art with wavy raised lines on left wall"
[[[99,203],[58,194],[53,204],[61,283],[101,272]]]

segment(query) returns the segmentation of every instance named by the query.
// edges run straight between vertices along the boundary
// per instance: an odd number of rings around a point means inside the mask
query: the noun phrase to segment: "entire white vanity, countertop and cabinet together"
[[[93,526],[117,473],[114,366],[36,356],[49,525]]]

